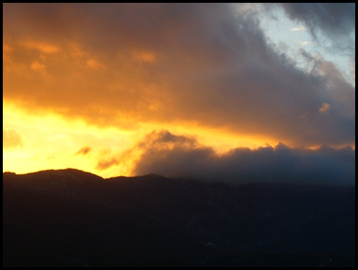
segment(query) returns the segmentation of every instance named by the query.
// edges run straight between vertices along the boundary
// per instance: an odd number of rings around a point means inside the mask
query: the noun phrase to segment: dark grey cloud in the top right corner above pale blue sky
[[[298,20],[317,37],[319,31],[340,49],[355,48],[355,3],[283,3],[292,20]]]

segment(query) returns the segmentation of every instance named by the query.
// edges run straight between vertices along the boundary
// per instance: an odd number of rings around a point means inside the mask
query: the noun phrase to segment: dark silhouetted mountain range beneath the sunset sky
[[[3,266],[354,266],[349,187],[3,173]]]

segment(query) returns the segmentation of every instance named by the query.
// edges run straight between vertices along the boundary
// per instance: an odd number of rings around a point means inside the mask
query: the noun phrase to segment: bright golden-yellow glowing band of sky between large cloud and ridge
[[[50,111],[29,113],[4,100],[3,171],[30,173],[60,168],[78,168],[104,178],[130,176],[140,158],[135,145],[152,130],[195,137],[199,143],[223,154],[235,147],[256,148],[273,140],[237,136],[201,128],[195,124],[141,123],[136,130],[89,125],[80,118],[63,118]],[[131,151],[129,151],[131,150]]]

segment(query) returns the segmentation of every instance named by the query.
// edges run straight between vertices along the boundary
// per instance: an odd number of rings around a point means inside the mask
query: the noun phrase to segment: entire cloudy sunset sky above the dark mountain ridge
[[[354,183],[355,4],[3,4],[3,25],[3,171]]]

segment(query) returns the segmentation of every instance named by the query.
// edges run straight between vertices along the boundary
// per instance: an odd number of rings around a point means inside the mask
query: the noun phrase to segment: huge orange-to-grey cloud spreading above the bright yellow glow
[[[4,100],[31,111],[121,128],[195,123],[295,146],[355,142],[355,91],[339,70],[325,61],[318,71],[297,68],[266,43],[257,18],[230,4],[3,8]],[[301,19],[297,9],[288,12],[311,29],[313,15]],[[343,13],[339,29],[349,25]],[[45,78],[30,72],[40,65]]]

